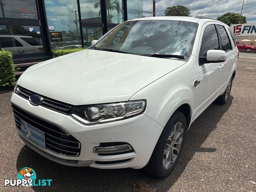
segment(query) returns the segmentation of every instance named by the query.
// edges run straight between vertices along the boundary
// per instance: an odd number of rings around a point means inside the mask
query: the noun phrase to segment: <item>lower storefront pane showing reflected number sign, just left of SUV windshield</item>
[[[83,27],[84,48],[91,46],[92,40],[98,40],[102,37],[102,28]]]

